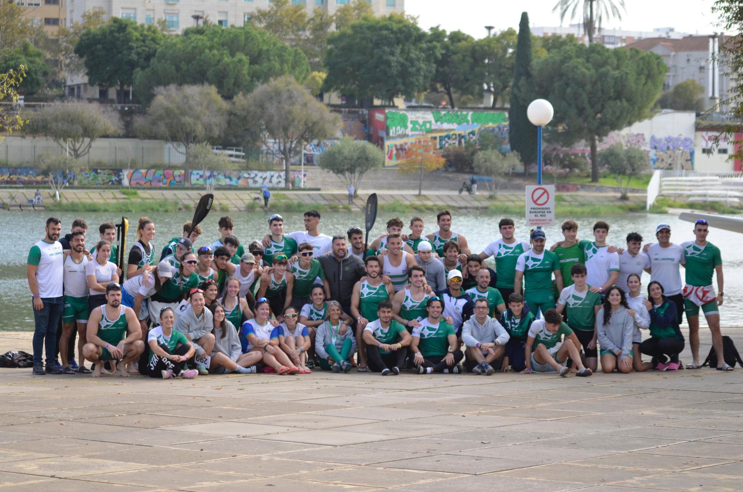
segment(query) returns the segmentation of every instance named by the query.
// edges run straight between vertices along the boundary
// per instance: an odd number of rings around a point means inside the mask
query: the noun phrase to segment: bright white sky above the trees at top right
[[[529,13],[531,26],[559,26],[559,13],[552,13],[555,4],[557,0],[405,0],[405,11],[418,16],[418,24],[425,29],[441,25],[447,31],[463,30],[481,38],[487,34],[485,25],[493,25],[496,30],[507,27],[518,30],[523,11]],[[675,27],[677,32],[690,34],[719,30],[710,11],[713,0],[625,0],[624,4],[626,13],[622,19],[609,19],[603,27],[626,30]],[[562,25],[576,22],[566,18]]]

